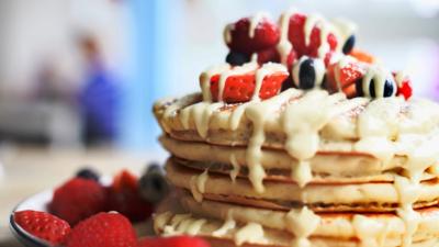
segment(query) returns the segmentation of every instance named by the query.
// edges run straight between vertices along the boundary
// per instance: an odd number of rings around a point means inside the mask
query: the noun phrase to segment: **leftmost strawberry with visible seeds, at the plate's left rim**
[[[25,210],[15,212],[14,221],[31,235],[53,245],[61,244],[70,233],[70,225],[46,212]]]

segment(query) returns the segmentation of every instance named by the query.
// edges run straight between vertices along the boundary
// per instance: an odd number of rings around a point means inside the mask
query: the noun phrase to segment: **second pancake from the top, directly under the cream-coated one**
[[[169,136],[161,136],[160,143],[173,156],[179,157],[180,164],[192,168],[230,173],[233,169],[248,170],[246,162],[246,147],[228,147],[211,145],[202,142],[182,142]],[[291,170],[299,165],[299,160],[284,150],[263,149],[260,162],[270,175],[283,175],[291,180]],[[353,180],[361,181],[374,178],[378,181],[391,181],[393,173],[399,172],[408,161],[405,156],[395,156],[389,162],[383,162],[369,155],[357,153],[317,153],[309,159],[309,167],[314,180]],[[437,164],[431,164],[434,168]],[[431,172],[435,171],[431,169]],[[272,172],[270,172],[272,171]],[[248,171],[246,172],[248,173]],[[435,175],[431,175],[435,176]],[[278,176],[279,177],[279,176]]]

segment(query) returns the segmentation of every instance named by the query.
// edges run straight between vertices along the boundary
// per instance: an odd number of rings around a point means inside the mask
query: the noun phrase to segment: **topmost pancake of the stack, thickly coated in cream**
[[[369,154],[382,159],[404,155],[426,141],[438,143],[439,108],[420,99],[370,101],[328,96],[322,90],[289,89],[264,101],[226,104],[203,102],[201,94],[194,93],[158,101],[154,113],[172,138],[215,145],[248,146],[256,124],[262,125],[264,148],[284,149],[292,136],[305,135],[308,128],[318,135],[319,151]]]

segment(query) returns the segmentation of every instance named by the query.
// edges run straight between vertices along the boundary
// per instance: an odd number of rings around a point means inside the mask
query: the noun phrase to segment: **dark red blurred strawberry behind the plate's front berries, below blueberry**
[[[105,189],[94,180],[74,178],[55,190],[49,210],[70,225],[104,211]]]

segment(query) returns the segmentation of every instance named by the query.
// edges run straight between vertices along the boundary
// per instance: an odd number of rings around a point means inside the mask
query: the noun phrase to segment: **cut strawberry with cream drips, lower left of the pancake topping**
[[[210,89],[213,101],[241,103],[254,98],[266,100],[279,93],[288,77],[283,65],[269,63],[259,67],[250,63],[212,76]]]

